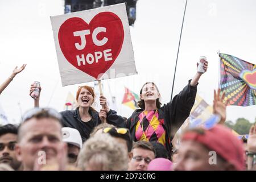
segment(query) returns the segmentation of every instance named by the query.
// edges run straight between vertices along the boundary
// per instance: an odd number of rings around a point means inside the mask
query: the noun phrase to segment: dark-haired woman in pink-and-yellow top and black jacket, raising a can
[[[203,68],[207,71],[208,62],[205,61]],[[126,127],[130,129],[134,141],[156,141],[166,146],[171,155],[172,144],[176,131],[188,118],[195,102],[197,84],[203,73],[197,72],[192,80],[189,80],[179,94],[171,102],[162,104],[159,101],[160,93],[153,82],[146,82],[140,91],[141,100],[137,109],[127,119]]]

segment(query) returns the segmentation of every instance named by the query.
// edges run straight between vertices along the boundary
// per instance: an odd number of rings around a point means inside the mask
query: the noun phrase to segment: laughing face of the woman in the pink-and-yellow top
[[[160,94],[155,84],[150,82],[143,86],[142,92],[141,92],[141,100],[144,100],[144,102],[156,101],[156,99],[158,99],[159,96]]]

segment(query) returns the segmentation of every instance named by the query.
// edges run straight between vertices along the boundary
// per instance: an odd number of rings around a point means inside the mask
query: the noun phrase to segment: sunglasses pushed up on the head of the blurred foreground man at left
[[[46,113],[49,117],[61,120],[61,114],[58,113],[58,111],[56,111],[55,109],[51,109],[48,107],[35,107],[23,114],[22,122],[27,121],[28,119],[31,119],[35,117],[35,115],[38,115],[40,113]]]

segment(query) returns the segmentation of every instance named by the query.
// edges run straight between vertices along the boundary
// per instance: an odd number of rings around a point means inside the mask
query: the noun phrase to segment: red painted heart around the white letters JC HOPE
[[[96,36],[98,40],[102,40],[104,38],[108,39],[103,46],[96,46],[96,44],[93,43],[92,34],[97,27],[106,28],[105,32],[100,32]],[[89,30],[90,34],[85,35],[86,45],[84,49],[79,50],[76,48],[75,44],[79,43],[81,45],[81,38],[80,36],[74,36],[74,32],[82,30]],[[77,69],[80,69],[82,72],[96,78],[96,80],[98,80],[98,76],[101,73],[105,73],[117,59],[122,48],[123,37],[124,32],[122,21],[117,15],[111,12],[98,13],[93,17],[89,24],[81,18],[69,18],[61,24],[58,33],[61,51],[69,63]],[[109,53],[112,53],[112,60],[105,61],[104,50],[107,49],[111,49]],[[98,59],[97,62],[95,52],[102,53],[102,57]],[[89,53],[94,56],[93,63],[90,62],[92,61],[92,57],[88,58],[90,64],[86,61],[86,56]],[[81,65],[78,64],[77,55],[80,58],[84,55],[85,64],[83,64],[83,62],[80,62]]]

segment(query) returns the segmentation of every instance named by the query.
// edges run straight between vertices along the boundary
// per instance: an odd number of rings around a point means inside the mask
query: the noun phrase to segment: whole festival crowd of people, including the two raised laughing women
[[[0,94],[26,67],[16,67],[0,86]],[[208,62],[204,63],[205,72]],[[0,170],[255,170],[256,125],[247,139],[240,139],[224,126],[225,93],[220,89],[213,100],[213,117],[196,127],[187,127],[179,148],[173,146],[177,130],[189,117],[197,85],[203,73],[188,81],[172,101],[162,106],[154,82],[140,90],[137,109],[127,119],[109,108],[100,96],[102,109],[93,107],[97,99],[90,86],[76,93],[78,107],[60,113],[34,107],[22,116],[19,126],[0,127]],[[35,90],[31,84],[30,95]]]

